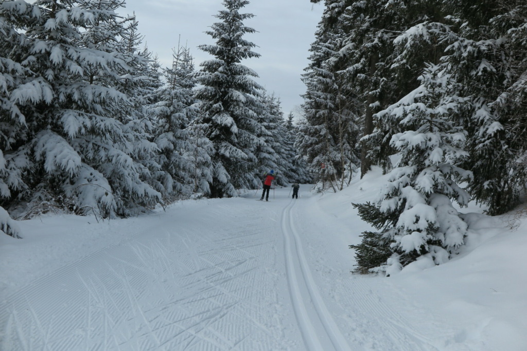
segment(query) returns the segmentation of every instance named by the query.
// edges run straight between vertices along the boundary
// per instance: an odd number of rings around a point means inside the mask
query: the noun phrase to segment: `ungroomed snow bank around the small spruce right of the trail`
[[[317,222],[324,223],[326,235],[333,237],[328,242],[335,245],[326,255],[344,250],[341,243],[360,242],[358,235],[370,229],[358,219],[350,204],[375,198],[382,178],[380,173],[371,172],[362,180],[355,179],[343,192],[324,194],[316,200],[312,208],[320,213]],[[389,278],[353,275],[335,279],[328,273],[338,266],[328,265],[325,260],[318,265],[325,270],[321,277],[332,286],[335,299],[353,299],[350,296],[357,286],[367,289],[363,296],[374,296],[370,308],[385,304],[388,323],[401,324],[401,328],[421,340],[421,345],[427,345],[425,349],[525,350],[527,260],[523,252],[527,248],[527,218],[514,213],[484,216],[476,213],[481,209],[474,204],[460,212],[467,213],[470,235],[463,252],[446,264],[435,266],[424,259]],[[323,217],[326,219],[319,220]],[[318,250],[324,240],[319,239],[313,250]],[[354,264],[353,259],[341,263],[340,269],[350,267],[350,263]],[[351,311],[359,303],[347,303],[348,318],[357,319]],[[375,348],[372,344],[371,349]]]

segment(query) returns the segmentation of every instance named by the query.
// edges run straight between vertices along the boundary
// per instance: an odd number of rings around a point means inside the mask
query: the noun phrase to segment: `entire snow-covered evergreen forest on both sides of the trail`
[[[308,0],[305,0],[308,3]],[[223,0],[211,59],[177,45],[162,67],[121,0],[0,1],[0,229],[46,212],[117,218],[261,185],[338,192],[382,169],[354,203],[374,228],[357,273],[465,244],[456,208],[500,215],[527,180],[524,0],[323,3],[301,116],[243,64],[257,58],[246,0]],[[205,28],[204,28],[205,29]],[[350,230],[352,230],[350,228]]]

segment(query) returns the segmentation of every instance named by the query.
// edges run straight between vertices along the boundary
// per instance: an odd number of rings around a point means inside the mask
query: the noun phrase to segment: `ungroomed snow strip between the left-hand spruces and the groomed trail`
[[[172,210],[193,212],[192,201],[175,203]],[[150,215],[101,220],[94,216],[43,215],[18,222],[23,239],[0,236],[0,296],[36,278],[55,272],[106,247],[119,245],[170,216],[158,209]]]

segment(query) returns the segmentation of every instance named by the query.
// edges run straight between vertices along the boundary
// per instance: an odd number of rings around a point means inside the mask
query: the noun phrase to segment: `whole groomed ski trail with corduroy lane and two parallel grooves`
[[[336,274],[313,198],[284,197],[217,202],[34,280],[0,307],[0,350],[441,349],[383,300],[388,283]]]

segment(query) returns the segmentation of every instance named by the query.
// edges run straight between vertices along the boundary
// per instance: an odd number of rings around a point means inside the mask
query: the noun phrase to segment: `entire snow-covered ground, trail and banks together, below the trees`
[[[352,275],[351,203],[379,179],[21,222],[0,236],[0,349],[527,350],[527,219],[471,214],[450,262]]]

